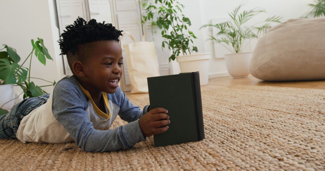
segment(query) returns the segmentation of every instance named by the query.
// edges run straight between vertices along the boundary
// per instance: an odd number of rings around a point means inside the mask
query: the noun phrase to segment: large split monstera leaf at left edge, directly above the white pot
[[[6,81],[6,84],[24,82],[26,77],[27,70],[20,67],[18,63],[10,63],[7,59],[0,59],[0,79]]]

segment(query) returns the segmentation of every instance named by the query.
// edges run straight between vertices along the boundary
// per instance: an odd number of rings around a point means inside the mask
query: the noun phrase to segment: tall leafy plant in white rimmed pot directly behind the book
[[[142,23],[151,21],[151,26],[157,26],[164,38],[165,46],[172,52],[171,60],[177,59],[181,72],[200,72],[200,84],[208,84],[209,59],[211,53],[196,53],[198,48],[193,46],[196,36],[189,30],[191,22],[182,14],[184,6],[177,0],[145,0],[142,4],[146,8]],[[157,17],[154,17],[157,16]]]

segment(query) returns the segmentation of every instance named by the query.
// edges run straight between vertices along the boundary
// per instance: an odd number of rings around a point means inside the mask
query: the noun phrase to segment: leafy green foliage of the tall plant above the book
[[[153,20],[155,20],[159,28],[157,30],[160,30],[162,38],[164,38],[162,41],[162,49],[167,46],[169,50],[173,51],[173,55],[169,60],[175,60],[175,56],[180,54],[180,52],[185,54],[187,54],[187,52],[190,53],[192,51],[192,46],[190,46],[189,43],[193,42],[191,39],[196,37],[193,33],[188,33],[188,26],[191,25],[191,22],[189,18],[182,14],[180,6],[182,8],[184,8],[184,6],[176,0],[151,0],[145,2],[148,2],[149,6],[154,6],[153,4],[159,6],[158,10],[147,8],[147,14],[143,18],[145,21],[149,20],[153,22]],[[158,14],[158,17],[154,18],[154,14]],[[148,20],[146,20],[146,17]],[[152,30],[152,32],[157,33],[158,31]]]

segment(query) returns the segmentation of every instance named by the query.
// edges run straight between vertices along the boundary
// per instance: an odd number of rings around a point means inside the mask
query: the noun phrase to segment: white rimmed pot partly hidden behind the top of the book
[[[200,73],[200,85],[209,83],[209,59],[211,53],[197,53],[191,55],[177,56],[177,62],[182,73]]]

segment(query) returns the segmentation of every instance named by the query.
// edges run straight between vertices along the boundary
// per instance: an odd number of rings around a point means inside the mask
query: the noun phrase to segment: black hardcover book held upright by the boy
[[[154,135],[154,145],[166,146],[204,139],[199,72],[148,78],[150,108],[165,108],[169,129]]]

